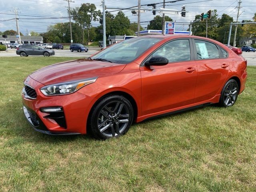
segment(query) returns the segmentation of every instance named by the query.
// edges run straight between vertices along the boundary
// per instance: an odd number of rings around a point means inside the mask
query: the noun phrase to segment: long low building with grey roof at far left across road
[[[18,38],[16,38],[16,35],[7,35],[6,43],[19,43]],[[20,36],[21,43],[43,43],[43,37],[42,36]],[[0,36],[0,44],[4,44],[5,39],[2,38],[2,35]]]

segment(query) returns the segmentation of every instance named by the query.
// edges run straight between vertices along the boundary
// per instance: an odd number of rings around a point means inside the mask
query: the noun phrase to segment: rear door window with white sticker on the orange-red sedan
[[[220,58],[219,50],[213,43],[204,40],[195,40],[198,59]]]

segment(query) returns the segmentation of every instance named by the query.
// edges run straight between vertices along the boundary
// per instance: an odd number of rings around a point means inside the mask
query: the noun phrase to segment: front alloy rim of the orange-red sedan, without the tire
[[[128,106],[122,101],[106,104],[98,114],[98,130],[106,137],[115,137],[126,129],[130,121]]]

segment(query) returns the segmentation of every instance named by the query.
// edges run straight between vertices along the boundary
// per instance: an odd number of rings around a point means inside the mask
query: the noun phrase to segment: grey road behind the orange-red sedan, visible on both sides
[[[78,53],[76,51],[70,52],[70,50],[56,50],[54,57],[89,57],[90,55],[100,51],[100,48],[89,48],[87,53],[81,52]],[[16,54],[16,49],[8,48],[8,52],[1,51],[0,57],[12,57],[19,56]],[[243,52],[242,56],[247,60],[248,66],[256,66],[256,52]],[[51,56],[52,57],[52,56]]]

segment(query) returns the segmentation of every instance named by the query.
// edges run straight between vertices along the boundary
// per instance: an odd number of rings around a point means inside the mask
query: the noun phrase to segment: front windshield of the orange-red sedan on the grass
[[[104,59],[113,63],[127,64],[160,40],[162,38],[131,38],[102,50],[91,59]]]

